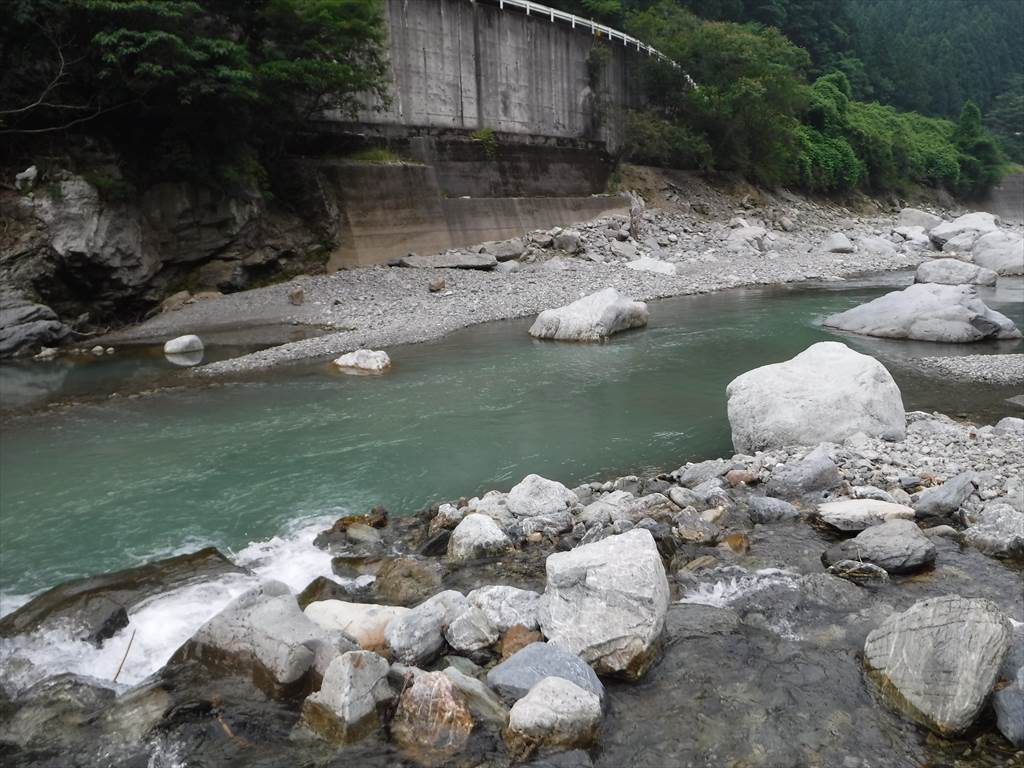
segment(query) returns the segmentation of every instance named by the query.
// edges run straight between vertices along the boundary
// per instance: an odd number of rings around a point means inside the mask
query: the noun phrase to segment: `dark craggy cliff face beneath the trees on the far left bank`
[[[323,270],[326,258],[305,222],[258,191],[187,182],[112,201],[57,172],[31,189],[0,190],[0,356],[137,319],[175,291],[242,290]]]

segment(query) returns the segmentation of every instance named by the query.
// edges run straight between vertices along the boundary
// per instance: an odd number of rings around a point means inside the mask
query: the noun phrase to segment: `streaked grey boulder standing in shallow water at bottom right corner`
[[[864,665],[894,707],[952,736],[981,712],[1010,641],[1010,622],[992,603],[946,595],[887,618],[867,636]]]

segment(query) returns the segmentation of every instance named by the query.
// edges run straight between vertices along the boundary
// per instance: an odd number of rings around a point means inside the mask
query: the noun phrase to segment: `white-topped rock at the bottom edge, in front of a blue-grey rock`
[[[506,740],[516,754],[541,745],[588,746],[601,727],[601,701],[559,677],[541,680],[512,706]]]

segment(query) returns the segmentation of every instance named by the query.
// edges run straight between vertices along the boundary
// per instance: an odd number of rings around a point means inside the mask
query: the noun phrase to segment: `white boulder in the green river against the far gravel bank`
[[[647,305],[605,288],[557,309],[545,309],[529,328],[538,339],[599,341],[647,325]]]

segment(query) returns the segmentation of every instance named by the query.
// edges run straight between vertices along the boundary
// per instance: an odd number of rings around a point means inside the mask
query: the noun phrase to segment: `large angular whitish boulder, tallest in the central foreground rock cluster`
[[[669,581],[649,530],[634,528],[547,560],[540,623],[554,645],[605,675],[641,677],[654,660]]]

